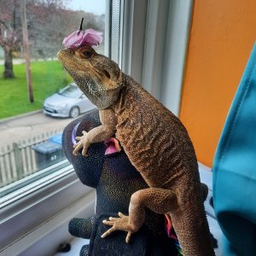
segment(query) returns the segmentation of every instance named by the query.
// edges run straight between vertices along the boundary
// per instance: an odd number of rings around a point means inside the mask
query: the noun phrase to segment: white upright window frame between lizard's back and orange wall
[[[124,1],[122,70],[177,116],[193,2]]]

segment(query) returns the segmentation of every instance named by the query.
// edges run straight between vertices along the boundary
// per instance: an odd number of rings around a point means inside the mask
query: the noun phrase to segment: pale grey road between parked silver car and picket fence
[[[0,148],[28,138],[37,137],[47,131],[63,130],[73,119],[52,118],[43,111],[7,119],[0,122]]]

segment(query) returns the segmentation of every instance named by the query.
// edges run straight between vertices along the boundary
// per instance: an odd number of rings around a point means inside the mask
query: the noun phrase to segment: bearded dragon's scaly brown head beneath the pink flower
[[[99,109],[110,107],[119,97],[122,72],[118,65],[90,46],[61,49],[58,59],[80,90]]]

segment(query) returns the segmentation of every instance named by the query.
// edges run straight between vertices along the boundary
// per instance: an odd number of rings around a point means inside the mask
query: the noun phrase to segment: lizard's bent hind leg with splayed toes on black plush
[[[172,189],[149,188],[141,189],[131,195],[129,216],[119,212],[120,218],[104,220],[103,224],[112,225],[102,237],[109,236],[114,230],[128,232],[125,241],[129,242],[131,235],[141,228],[145,219],[145,207],[157,213],[171,212],[177,208],[177,195]]]

